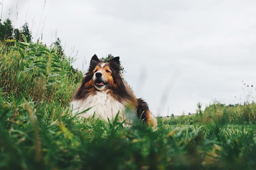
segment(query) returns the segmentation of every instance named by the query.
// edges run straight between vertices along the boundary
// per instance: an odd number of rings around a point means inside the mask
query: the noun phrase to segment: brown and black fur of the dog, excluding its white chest
[[[117,102],[129,108],[132,113],[137,114],[137,117],[146,122],[148,126],[156,126],[157,121],[150,112],[148,104],[141,98],[135,97],[130,86],[124,82],[120,70],[119,57],[114,57],[103,64],[102,60],[94,55],[71,101],[83,101],[98,92],[106,92],[106,95],[112,96]],[[110,106],[106,105],[106,107]]]

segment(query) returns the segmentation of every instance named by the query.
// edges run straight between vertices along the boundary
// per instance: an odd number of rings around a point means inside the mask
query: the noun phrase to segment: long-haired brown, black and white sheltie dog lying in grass
[[[94,55],[90,67],[83,77],[81,85],[71,99],[72,114],[85,118],[99,117],[113,120],[118,114],[119,121],[132,124],[141,119],[148,126],[156,126],[157,121],[141,98],[137,99],[121,75],[119,57],[107,63]]]

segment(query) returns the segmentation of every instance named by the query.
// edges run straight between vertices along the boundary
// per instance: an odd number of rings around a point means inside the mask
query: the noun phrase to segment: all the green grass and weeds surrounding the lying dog
[[[256,104],[213,102],[195,115],[78,119],[69,100],[83,74],[56,46],[0,45],[1,170],[254,170]]]

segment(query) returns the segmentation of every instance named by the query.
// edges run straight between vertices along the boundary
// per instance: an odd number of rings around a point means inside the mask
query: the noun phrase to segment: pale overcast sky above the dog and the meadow
[[[74,67],[86,71],[94,54],[119,56],[155,116],[255,97],[244,85],[256,86],[255,0],[0,1],[2,20],[28,22],[33,41],[59,37]]]

